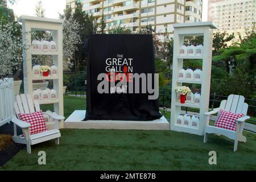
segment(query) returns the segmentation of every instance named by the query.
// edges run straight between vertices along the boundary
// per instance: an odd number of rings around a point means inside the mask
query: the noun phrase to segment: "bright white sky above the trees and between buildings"
[[[39,0],[18,0],[13,6],[15,15],[35,15],[35,6]],[[46,18],[59,18],[59,13],[63,13],[66,5],[66,0],[42,0],[43,7],[46,9]],[[208,0],[203,0],[203,21],[207,21],[208,14]]]

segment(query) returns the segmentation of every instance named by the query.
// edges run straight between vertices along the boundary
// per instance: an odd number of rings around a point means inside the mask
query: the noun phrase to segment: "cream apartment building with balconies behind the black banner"
[[[76,0],[77,1],[77,0]],[[79,0],[78,0],[79,1]],[[139,31],[149,26],[156,32],[173,34],[172,24],[200,22],[201,0],[82,0],[83,10],[100,20],[106,20],[107,27],[120,24],[131,31]],[[67,0],[67,5],[75,9],[75,0]]]

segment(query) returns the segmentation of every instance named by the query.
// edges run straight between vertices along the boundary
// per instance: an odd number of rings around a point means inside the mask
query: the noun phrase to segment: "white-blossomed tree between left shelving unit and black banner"
[[[63,56],[67,59],[64,65],[70,68],[73,64],[71,60],[74,59],[74,54],[78,50],[78,45],[82,43],[79,34],[81,30],[80,24],[71,16],[71,18],[64,19],[63,23]]]

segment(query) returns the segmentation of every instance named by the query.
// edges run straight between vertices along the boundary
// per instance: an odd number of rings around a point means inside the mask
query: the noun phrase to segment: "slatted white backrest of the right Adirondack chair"
[[[221,102],[220,109],[246,115],[248,104],[245,103],[245,97],[232,94],[228,97],[228,100]]]

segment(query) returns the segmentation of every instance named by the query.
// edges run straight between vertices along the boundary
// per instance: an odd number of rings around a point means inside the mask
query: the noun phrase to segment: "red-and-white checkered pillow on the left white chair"
[[[24,122],[30,123],[31,135],[47,131],[46,122],[44,122],[42,111],[30,114],[19,114],[19,119]]]

